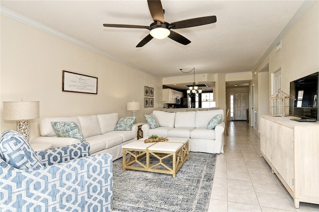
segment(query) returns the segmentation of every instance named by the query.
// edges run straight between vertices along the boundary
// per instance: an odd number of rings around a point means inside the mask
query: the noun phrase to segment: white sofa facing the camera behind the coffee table
[[[144,124],[145,137],[158,135],[162,137],[189,138],[189,151],[224,153],[224,110],[198,110],[186,112],[164,112],[154,110],[160,127],[151,129]],[[214,129],[207,129],[208,122],[217,114],[222,115],[221,122]]]

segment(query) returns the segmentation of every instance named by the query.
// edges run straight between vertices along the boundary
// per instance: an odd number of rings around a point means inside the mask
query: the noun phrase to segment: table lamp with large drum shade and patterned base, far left
[[[16,120],[16,131],[27,141],[30,138],[30,119],[39,117],[39,102],[3,102],[3,119]]]

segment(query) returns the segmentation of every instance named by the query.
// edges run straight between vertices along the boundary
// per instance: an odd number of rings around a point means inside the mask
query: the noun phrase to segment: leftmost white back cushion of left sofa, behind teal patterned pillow
[[[49,136],[49,137],[56,137],[56,133],[52,127],[52,121],[74,121],[79,128],[81,129],[81,125],[79,119],[75,116],[72,117],[46,117],[40,119],[40,134],[41,136]]]

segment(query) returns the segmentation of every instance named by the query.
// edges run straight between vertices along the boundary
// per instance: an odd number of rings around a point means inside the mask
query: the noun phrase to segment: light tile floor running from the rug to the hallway
[[[308,203],[295,209],[293,198],[260,157],[260,134],[248,122],[228,123],[208,212],[319,212],[319,205]]]

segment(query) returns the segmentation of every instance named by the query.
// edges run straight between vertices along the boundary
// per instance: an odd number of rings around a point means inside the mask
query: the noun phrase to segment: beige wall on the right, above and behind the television
[[[267,67],[268,79],[265,76]],[[298,22],[282,38],[282,49],[278,52],[274,47],[266,57],[256,66],[253,72],[257,72],[258,78],[250,83],[268,80],[268,85],[263,84],[258,88],[259,116],[269,114],[265,107],[265,101],[261,101],[267,93],[268,98],[271,94],[271,74],[281,68],[282,90],[290,92],[290,82],[301,77],[319,71],[319,1],[315,1]],[[256,93],[255,93],[256,94]],[[251,95],[251,94],[250,94]],[[256,102],[255,102],[256,103]],[[255,107],[256,108],[256,107]],[[268,107],[269,108],[269,107]],[[255,127],[255,129],[258,129]]]

